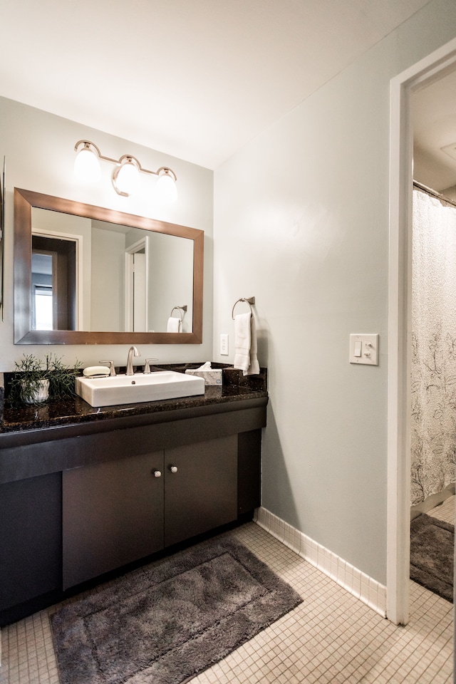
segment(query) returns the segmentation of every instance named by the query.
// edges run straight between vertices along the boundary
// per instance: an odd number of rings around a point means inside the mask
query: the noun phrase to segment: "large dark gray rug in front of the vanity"
[[[301,601],[238,541],[209,539],[54,613],[61,682],[187,682]]]

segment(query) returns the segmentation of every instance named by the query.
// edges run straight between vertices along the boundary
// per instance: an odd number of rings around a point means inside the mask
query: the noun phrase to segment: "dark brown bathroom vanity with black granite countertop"
[[[185,370],[185,368],[182,368]],[[204,395],[4,410],[0,626],[260,504],[266,371]],[[82,588],[82,587],[81,587]],[[77,591],[77,590],[76,590]]]

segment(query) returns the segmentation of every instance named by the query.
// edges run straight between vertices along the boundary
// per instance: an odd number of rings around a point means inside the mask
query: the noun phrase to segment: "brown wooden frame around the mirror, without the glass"
[[[184,237],[193,241],[193,321],[191,333],[128,333],[31,329],[32,207]],[[202,343],[204,231],[41,192],[14,188],[14,343],[15,344],[199,344]]]

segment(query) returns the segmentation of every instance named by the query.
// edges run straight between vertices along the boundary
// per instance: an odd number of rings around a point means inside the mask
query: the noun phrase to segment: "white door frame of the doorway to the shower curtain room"
[[[456,68],[456,38],[390,82],[388,520],[386,614],[407,624],[410,586],[410,358],[413,120],[410,95]]]

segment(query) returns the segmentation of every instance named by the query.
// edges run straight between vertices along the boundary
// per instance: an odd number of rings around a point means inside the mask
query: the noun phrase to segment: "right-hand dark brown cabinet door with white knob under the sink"
[[[236,518],[237,435],[165,450],[165,546]]]

